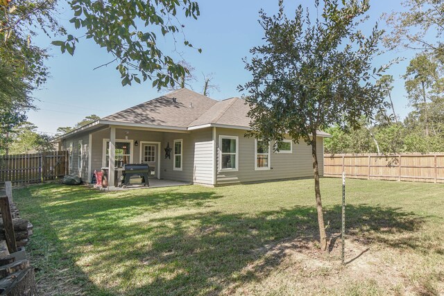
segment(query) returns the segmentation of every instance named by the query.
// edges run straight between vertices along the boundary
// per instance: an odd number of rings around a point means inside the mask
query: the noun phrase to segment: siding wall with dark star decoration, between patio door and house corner
[[[190,133],[164,132],[162,147],[167,143],[174,148],[174,140],[182,139],[182,171],[173,170],[173,150],[171,158],[165,159],[164,150],[160,164],[162,179],[212,184],[212,130],[206,128]]]

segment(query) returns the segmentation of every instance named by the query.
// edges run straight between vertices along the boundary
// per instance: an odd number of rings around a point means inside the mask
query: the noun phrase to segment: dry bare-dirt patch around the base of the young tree
[[[341,248],[339,234],[332,236],[330,252],[321,252],[310,238],[266,245],[255,250],[259,259],[241,271],[245,280],[237,281],[224,293],[341,295],[353,285],[362,285],[364,290],[375,289],[386,295],[413,295],[413,291],[404,288],[406,280],[398,267],[384,259],[384,250],[347,239],[343,266]]]

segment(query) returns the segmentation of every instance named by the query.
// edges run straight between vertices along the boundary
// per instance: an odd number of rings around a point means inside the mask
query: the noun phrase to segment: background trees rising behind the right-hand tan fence
[[[326,153],[429,153],[444,151],[444,1],[407,0],[405,12],[384,15],[391,31],[385,46],[402,46],[416,56],[401,77],[412,111],[400,120],[391,97],[393,77],[379,80],[386,103],[375,116],[362,117],[358,128],[334,125]]]

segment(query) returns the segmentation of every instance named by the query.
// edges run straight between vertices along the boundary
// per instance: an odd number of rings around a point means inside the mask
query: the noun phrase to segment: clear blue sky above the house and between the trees
[[[249,55],[250,48],[262,42],[263,31],[257,22],[258,11],[263,8],[267,13],[274,13],[277,11],[278,1],[200,0],[198,2],[200,17],[196,21],[191,19],[184,21],[185,35],[187,40],[194,46],[202,48],[203,52],[198,53],[178,44],[182,58],[196,69],[195,75],[198,81],[193,84],[193,89],[201,92],[202,73],[213,73],[214,83],[219,85],[220,92],[213,91],[210,97],[221,100],[240,96],[237,85],[250,79],[250,74],[244,69],[241,59]],[[313,1],[285,1],[284,5],[291,14],[300,3],[302,6],[312,6]],[[383,12],[402,10],[400,1],[373,0],[370,1],[370,5],[368,12],[370,19],[366,22],[368,28],[364,28],[364,31],[370,30],[376,21],[379,21],[380,28],[384,28],[384,21],[379,19]],[[62,4],[60,22],[68,31],[74,32],[74,35],[82,35],[69,24],[68,20],[71,17],[73,12],[66,3]],[[106,116],[159,96],[157,89],[151,87],[151,82],[122,87],[115,64],[93,70],[94,67],[112,60],[112,57],[92,40],[81,40],[74,56],[60,53],[58,48],[50,45],[51,40],[47,37],[35,37],[33,42],[49,48],[52,55],[47,61],[51,77],[42,89],[34,93],[35,105],[39,110],[28,113],[28,120],[35,123],[40,132],[54,133],[58,127],[74,125],[89,114]],[[164,53],[180,60],[177,53],[172,51],[173,47],[168,40],[165,43]],[[397,56],[406,58],[388,71],[388,74],[395,78],[392,98],[395,110],[402,119],[409,112],[409,107],[405,98],[404,81],[400,76],[404,74],[413,55],[414,53],[409,51],[390,52],[379,56],[375,61],[379,65]]]

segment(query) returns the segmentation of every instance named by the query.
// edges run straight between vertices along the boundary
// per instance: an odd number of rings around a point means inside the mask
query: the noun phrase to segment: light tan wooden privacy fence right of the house
[[[368,180],[444,183],[444,153],[439,154],[325,154],[324,176]]]

